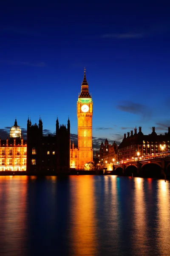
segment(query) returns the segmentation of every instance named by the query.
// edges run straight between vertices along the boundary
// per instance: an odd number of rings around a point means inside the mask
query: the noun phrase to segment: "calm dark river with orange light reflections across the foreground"
[[[0,176],[0,256],[170,256],[170,182]]]

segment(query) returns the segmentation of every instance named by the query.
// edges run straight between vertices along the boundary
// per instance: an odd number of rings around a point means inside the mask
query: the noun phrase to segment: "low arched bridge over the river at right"
[[[121,161],[113,165],[111,174],[142,177],[170,177],[170,155],[147,158],[140,157]]]

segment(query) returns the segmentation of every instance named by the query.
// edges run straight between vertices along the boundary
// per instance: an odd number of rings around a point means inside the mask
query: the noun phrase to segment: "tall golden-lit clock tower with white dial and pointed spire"
[[[85,163],[93,162],[92,116],[93,102],[88,91],[88,82],[85,77],[84,69],[84,79],[82,81],[81,93],[77,101],[78,169],[82,169]]]

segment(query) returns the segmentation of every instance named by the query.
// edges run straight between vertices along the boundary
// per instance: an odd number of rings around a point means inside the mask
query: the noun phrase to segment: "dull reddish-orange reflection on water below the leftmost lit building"
[[[2,198],[0,195],[1,212],[0,225],[1,243],[8,255],[23,255],[27,223],[27,176],[0,177],[0,193],[3,188]]]

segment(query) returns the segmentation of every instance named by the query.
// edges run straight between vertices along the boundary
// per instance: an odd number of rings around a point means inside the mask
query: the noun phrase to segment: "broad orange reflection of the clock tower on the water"
[[[70,176],[71,183],[71,251],[73,255],[96,255],[97,237],[95,221],[93,176]],[[75,221],[76,220],[76,221]]]

